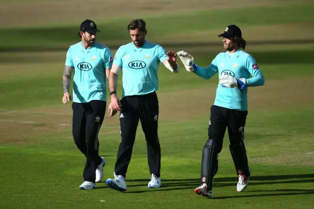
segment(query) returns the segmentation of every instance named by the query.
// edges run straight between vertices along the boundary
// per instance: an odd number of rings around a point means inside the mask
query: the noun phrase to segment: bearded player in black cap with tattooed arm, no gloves
[[[95,22],[85,20],[78,32],[81,42],[70,46],[63,73],[62,102],[72,101],[69,88],[73,77],[73,138],[86,156],[84,183],[79,189],[94,189],[104,177],[105,158],[98,154],[98,133],[106,109],[106,77],[109,78],[113,58],[110,50],[96,42],[100,32]],[[110,107],[109,107],[110,108]]]

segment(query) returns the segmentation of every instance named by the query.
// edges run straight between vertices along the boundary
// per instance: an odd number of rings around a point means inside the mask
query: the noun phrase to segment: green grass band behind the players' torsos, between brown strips
[[[189,51],[190,52],[190,51]],[[219,52],[219,51],[218,51]],[[195,57],[195,62],[203,67],[210,64],[211,59],[217,52],[190,52]],[[253,56],[258,61],[259,66],[266,80],[314,76],[313,60],[308,58],[310,50],[282,51],[282,52],[253,52]],[[11,56],[8,56],[10,59]],[[49,55],[47,55],[49,58]],[[47,59],[46,57],[46,59]],[[41,57],[35,57],[40,60]],[[35,60],[33,61],[34,63]],[[60,103],[62,97],[62,73],[64,61],[48,62],[33,65],[31,63],[22,64],[23,71],[15,76],[3,72],[0,78],[0,103],[1,108],[19,109],[34,106],[47,106]],[[21,64],[19,64],[21,65]],[[9,69],[16,69],[14,63],[8,64]],[[34,69],[34,66],[35,69]],[[217,75],[209,80],[199,78],[192,73],[185,71],[182,64],[179,74],[171,74],[166,68],[159,68],[159,91],[167,92],[182,89],[195,89],[204,86],[214,87],[217,85]],[[38,70],[39,69],[39,70]],[[35,71],[35,73],[33,73]],[[297,72],[297,73],[296,73]],[[27,79],[26,79],[27,78]],[[118,81],[118,92],[121,94],[121,76]],[[23,86],[23,91],[21,91]],[[40,99],[37,98],[40,95]]]

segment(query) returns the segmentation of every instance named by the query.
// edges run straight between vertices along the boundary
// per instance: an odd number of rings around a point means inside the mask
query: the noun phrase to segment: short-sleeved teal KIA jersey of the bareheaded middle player
[[[122,66],[122,97],[157,91],[158,66],[167,58],[160,45],[148,41],[140,48],[136,48],[133,42],[121,46],[113,63]]]

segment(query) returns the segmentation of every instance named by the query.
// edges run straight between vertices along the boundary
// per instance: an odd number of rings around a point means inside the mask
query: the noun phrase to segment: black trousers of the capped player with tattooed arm
[[[84,181],[95,183],[96,168],[102,162],[98,154],[98,133],[105,117],[106,102],[93,100],[89,103],[73,103],[74,142],[85,155]]]

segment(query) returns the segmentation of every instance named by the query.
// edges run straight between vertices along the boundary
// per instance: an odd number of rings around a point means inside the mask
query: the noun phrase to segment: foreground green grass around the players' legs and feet
[[[249,116],[245,139],[248,156],[254,159],[312,151],[314,146],[306,139],[314,131],[304,130],[303,127],[311,120],[306,115],[313,114],[313,109],[304,109]],[[291,126],[291,119],[298,124],[297,127]],[[276,129],[270,130],[274,125],[277,125]],[[2,145],[0,163],[5,171],[2,188],[8,190],[2,189],[0,192],[1,208],[233,208],[243,203],[250,208],[260,208],[261,205],[263,208],[307,208],[302,203],[311,204],[314,193],[313,165],[251,163],[253,175],[250,186],[246,192],[237,193],[234,165],[227,147],[228,137],[220,154],[220,170],[215,178],[213,198],[208,200],[194,195],[193,189],[199,182],[206,129],[207,123],[204,121],[162,128],[159,135],[163,187],[156,190],[147,189],[149,169],[145,141],[142,133],[137,134],[128,172],[128,191],[125,193],[109,190],[105,183],[98,183],[99,188],[93,191],[78,190],[84,158],[73,141],[66,137],[69,131],[55,133],[50,136],[53,140],[45,143],[38,141],[36,145]],[[267,133],[262,137],[261,132]],[[100,153],[107,159],[105,178],[111,178],[119,136],[101,136],[100,143]],[[292,147],[294,150],[291,150]],[[23,173],[18,173],[17,168]]]

